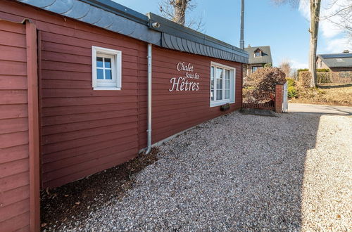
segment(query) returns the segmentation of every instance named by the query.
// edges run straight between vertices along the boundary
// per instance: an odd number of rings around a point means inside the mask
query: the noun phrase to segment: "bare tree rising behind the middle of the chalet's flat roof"
[[[191,0],[162,0],[159,3],[160,11],[163,17],[177,22],[178,24],[190,27],[194,30],[203,30],[203,20],[199,18],[190,18],[187,12],[196,8],[196,3]]]

